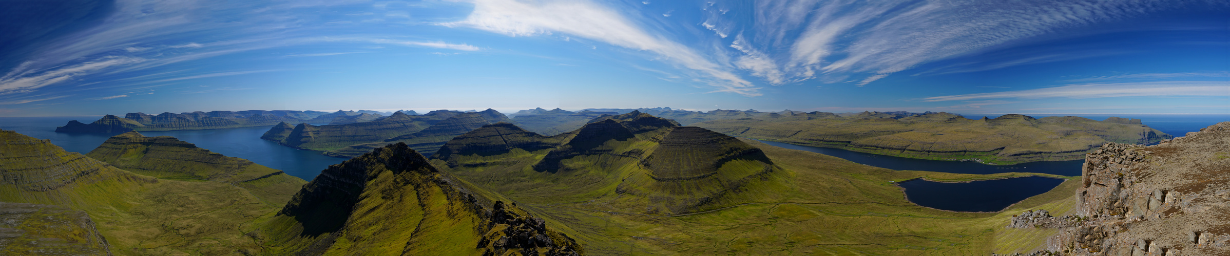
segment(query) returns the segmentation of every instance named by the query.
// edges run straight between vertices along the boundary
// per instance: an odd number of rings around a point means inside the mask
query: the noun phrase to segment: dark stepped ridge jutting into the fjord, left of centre
[[[407,115],[394,113],[390,116],[379,118],[371,121],[344,124],[344,125],[309,125],[299,124],[290,132],[284,132],[284,127],[274,126],[262,136],[264,140],[277,141],[280,145],[311,149],[332,151],[351,145],[380,142],[400,135],[413,134],[435,124],[437,121],[451,118],[458,111],[432,111],[426,115]],[[285,136],[280,136],[285,134]]]

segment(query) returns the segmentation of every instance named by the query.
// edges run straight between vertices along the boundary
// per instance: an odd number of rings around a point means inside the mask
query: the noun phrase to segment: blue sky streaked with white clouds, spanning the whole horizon
[[[1230,113],[1224,1],[12,1],[0,116]]]

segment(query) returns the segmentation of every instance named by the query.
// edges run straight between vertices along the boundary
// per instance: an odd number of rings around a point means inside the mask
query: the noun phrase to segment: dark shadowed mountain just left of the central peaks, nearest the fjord
[[[432,159],[450,159],[451,156],[498,156],[513,149],[541,151],[558,147],[571,134],[546,137],[530,132],[508,122],[483,125],[480,129],[456,136],[440,147]],[[455,167],[456,163],[449,163]]]

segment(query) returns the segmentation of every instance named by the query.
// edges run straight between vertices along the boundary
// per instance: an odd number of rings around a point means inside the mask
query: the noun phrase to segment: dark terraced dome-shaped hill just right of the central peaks
[[[747,158],[772,164],[760,148],[702,127],[672,129],[641,163],[656,180],[691,180],[717,174],[726,162]]]

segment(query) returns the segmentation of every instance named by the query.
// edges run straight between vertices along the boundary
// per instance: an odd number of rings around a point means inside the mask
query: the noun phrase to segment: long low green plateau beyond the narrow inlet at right
[[[734,136],[795,145],[995,164],[1073,160],[1106,142],[1156,143],[1171,138],[1139,124],[1076,116],[1034,119],[1016,114],[975,120],[948,113],[905,118],[873,111],[850,116],[807,113],[695,125]]]

